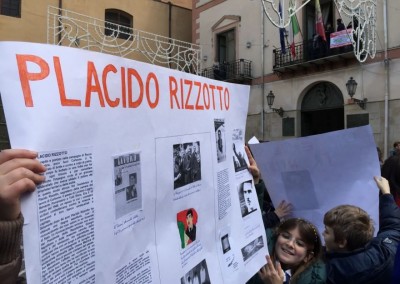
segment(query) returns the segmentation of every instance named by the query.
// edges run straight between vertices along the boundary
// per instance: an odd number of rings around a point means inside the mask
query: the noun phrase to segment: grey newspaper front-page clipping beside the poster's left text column
[[[140,154],[113,157],[115,219],[142,209]]]

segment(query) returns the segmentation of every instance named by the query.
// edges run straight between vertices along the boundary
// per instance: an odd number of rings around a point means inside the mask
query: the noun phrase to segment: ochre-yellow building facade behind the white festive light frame
[[[181,62],[171,63],[179,56],[170,45],[195,51],[191,6],[191,0],[0,0],[0,40],[84,48],[174,68]],[[137,38],[147,40],[139,49]],[[5,149],[10,143],[0,113],[0,149]]]

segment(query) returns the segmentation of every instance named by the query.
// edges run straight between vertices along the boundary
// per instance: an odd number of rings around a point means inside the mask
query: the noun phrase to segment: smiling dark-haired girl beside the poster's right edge
[[[325,264],[320,260],[321,238],[313,224],[304,219],[292,218],[281,223],[275,232],[267,229],[266,233],[270,256],[266,257],[267,264],[260,269],[259,281],[256,282],[325,283]]]

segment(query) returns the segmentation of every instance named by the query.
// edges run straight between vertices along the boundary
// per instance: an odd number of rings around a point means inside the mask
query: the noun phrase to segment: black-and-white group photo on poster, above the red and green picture
[[[173,145],[174,189],[201,180],[200,142]]]

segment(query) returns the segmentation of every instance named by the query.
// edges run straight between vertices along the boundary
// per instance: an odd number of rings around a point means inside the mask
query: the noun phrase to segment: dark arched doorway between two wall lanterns
[[[342,92],[334,84],[312,86],[301,102],[301,136],[344,129]]]

